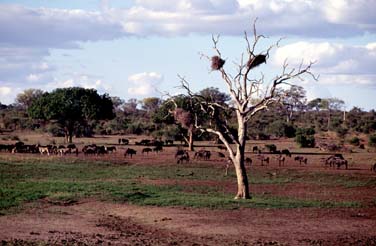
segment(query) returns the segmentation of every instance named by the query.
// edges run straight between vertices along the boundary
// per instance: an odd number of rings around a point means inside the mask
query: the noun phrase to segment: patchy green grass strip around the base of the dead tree
[[[69,203],[83,198],[137,205],[221,209],[365,206],[357,200],[322,200],[314,196],[312,199],[298,199],[265,192],[254,193],[251,200],[234,201],[235,180],[234,174],[224,176],[221,168],[205,163],[122,165],[105,158],[85,160],[6,155],[0,156],[0,211],[8,213],[39,199]],[[344,190],[376,186],[372,177],[285,170],[271,178],[262,169],[251,171],[250,183],[251,187],[268,185],[271,189],[294,184],[335,186]]]

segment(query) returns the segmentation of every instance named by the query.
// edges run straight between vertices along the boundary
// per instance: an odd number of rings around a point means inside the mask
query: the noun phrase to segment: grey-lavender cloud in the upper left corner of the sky
[[[0,43],[20,47],[77,48],[77,42],[124,35],[119,23],[95,11],[0,4]]]

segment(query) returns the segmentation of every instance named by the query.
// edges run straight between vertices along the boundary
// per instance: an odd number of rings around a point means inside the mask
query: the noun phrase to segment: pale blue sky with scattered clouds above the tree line
[[[28,88],[96,88],[124,100],[182,92],[178,74],[195,91],[225,85],[199,52],[214,55],[212,34],[226,69],[245,52],[243,31],[284,37],[266,65],[266,78],[285,59],[317,61],[318,81],[294,81],[309,99],[337,97],[347,109],[376,109],[374,0],[0,0],[0,102]],[[265,83],[267,85],[267,81]]]

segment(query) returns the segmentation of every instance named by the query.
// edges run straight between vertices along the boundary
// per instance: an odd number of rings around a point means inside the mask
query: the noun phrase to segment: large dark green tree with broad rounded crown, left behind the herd
[[[72,142],[76,129],[86,126],[91,120],[114,118],[113,103],[107,95],[98,95],[94,89],[79,87],[56,89],[45,92],[33,101],[28,109],[34,119],[56,122],[65,133],[67,142]]]

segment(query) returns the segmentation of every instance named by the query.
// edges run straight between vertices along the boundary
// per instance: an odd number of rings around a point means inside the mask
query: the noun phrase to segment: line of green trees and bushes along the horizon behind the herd
[[[248,124],[249,139],[296,137],[298,129],[313,129],[316,133],[332,131],[340,139],[367,134],[376,130],[375,110],[364,111],[354,107],[344,110],[344,102],[337,98],[316,98],[308,101],[303,87],[279,89],[280,101],[263,114],[257,114]],[[218,88],[205,88],[197,93],[208,102],[231,104],[229,95]],[[53,136],[91,137],[94,134],[138,134],[154,138],[181,140],[189,143],[189,126],[176,118],[172,111],[178,107],[184,112],[200,114],[200,121],[211,123],[188,95],[163,100],[146,97],[142,100],[99,95],[94,89],[60,88],[50,93],[27,89],[18,94],[13,104],[0,103],[0,130],[34,130]],[[221,112],[218,120],[226,119],[235,131],[233,112]],[[189,114],[185,117],[189,117]],[[202,123],[201,122],[201,123]],[[188,122],[189,124],[189,122]],[[233,126],[231,128],[231,126]],[[192,133],[192,140],[215,140],[208,133]],[[349,139],[357,144],[356,137]]]

